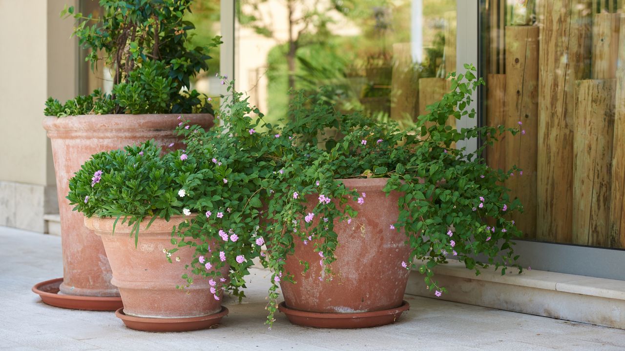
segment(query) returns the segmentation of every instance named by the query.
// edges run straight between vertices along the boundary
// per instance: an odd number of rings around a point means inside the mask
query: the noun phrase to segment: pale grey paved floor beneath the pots
[[[112,312],[58,309],[31,292],[63,275],[59,237],[0,227],[0,262],[0,350],[625,350],[625,330],[410,295],[411,309],[384,327],[311,329],[279,314],[267,330],[259,269],[216,329],[138,332]]]

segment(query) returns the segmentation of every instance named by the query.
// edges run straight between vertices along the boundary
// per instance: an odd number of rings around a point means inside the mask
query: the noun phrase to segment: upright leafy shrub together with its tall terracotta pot
[[[44,111],[49,116],[43,125],[52,142],[63,237],[64,272],[58,288],[63,294],[58,298],[74,295],[72,301],[86,303],[70,308],[109,309],[103,302],[119,299],[119,292],[111,285],[101,240],[84,227],[83,216],[72,212],[65,199],[68,179],[97,152],[149,139],[164,148],[179,146],[173,130],[181,114],[193,124],[212,125],[211,99],[187,87],[191,77],[207,70],[207,53],[220,42],[216,37],[207,46],[189,47],[194,27],[183,16],[190,2],[101,0],[100,18],[74,13],[73,7],[63,13],[76,19],[74,35],[90,49],[91,67],[114,71],[112,94],[96,90],[65,104],[50,97]],[[119,306],[121,302],[114,309]]]

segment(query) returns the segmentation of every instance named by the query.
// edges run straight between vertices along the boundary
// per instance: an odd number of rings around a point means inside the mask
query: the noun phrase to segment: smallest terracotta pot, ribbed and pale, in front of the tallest
[[[163,249],[172,249],[171,229],[184,220],[183,216],[171,217],[169,222],[156,219],[148,230],[148,220],[139,229],[139,242],[135,247],[132,227],[119,224],[113,233],[114,218],[85,218],[84,224],[102,238],[106,255],[113,269],[113,285],[119,288],[124,303],[124,314],[134,317],[161,319],[192,318],[221,312],[220,301],[209,291],[211,286],[205,277],[194,275],[193,284],[187,289],[176,289],[186,284],[181,275],[185,265],[193,259],[194,247],[181,247],[173,254],[172,263],[166,259]],[[121,222],[121,221],[120,221]],[[174,257],[180,257],[176,262]],[[226,277],[228,267],[221,270]]]

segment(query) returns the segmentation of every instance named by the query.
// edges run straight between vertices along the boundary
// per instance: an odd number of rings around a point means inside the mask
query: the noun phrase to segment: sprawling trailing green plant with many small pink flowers
[[[446,289],[434,279],[432,269],[446,263],[447,257],[457,257],[476,274],[489,264],[504,274],[517,259],[511,239],[520,235],[508,215],[522,208],[501,184],[519,170],[489,169],[480,156],[499,134],[517,130],[500,126],[457,131],[446,126],[449,116],[475,117],[475,111],[468,110],[471,92],[484,82],[474,75],[473,66],[465,67],[466,74],[450,74],[452,91],[428,106],[429,112],[415,126],[404,130],[358,112],[336,111],[324,99],[323,89],[314,97],[296,94],[289,109],[292,122],[274,126],[264,122],[261,112],[241,93],[232,91],[230,83],[231,96],[218,114],[221,127],[206,132],[180,129],[187,152],[216,165],[214,181],[206,188],[210,195],[193,207],[205,215],[179,225],[173,234],[176,246],[196,249],[196,259],[188,265],[192,274],[213,275],[206,264],[230,265],[231,281],[224,288],[240,299],[252,259],[259,258],[272,272],[267,304],[267,323],[272,324],[278,284],[292,281],[284,271],[284,259],[292,254],[296,241],[314,245],[322,257],[324,276],[332,279],[335,221],[357,219],[357,207],[348,200],[366,201],[365,194],[346,189],[337,179],[361,177],[384,177],[386,192],[405,194],[397,204],[400,215],[394,228],[403,230],[412,252],[407,262],[396,262],[397,269],[417,265],[437,296]],[[474,152],[451,147],[478,136],[487,142]],[[305,195],[319,200],[312,212]],[[204,244],[187,240],[189,236]],[[216,246],[210,247],[215,240]],[[479,260],[479,255],[486,259]],[[423,263],[413,264],[412,259]],[[309,262],[301,263],[303,270],[309,267]],[[183,277],[192,283],[192,275]]]

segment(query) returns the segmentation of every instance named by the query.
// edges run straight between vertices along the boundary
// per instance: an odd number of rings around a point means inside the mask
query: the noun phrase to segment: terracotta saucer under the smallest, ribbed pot
[[[191,318],[146,318],[124,314],[124,309],[115,311],[115,316],[124,321],[126,327],[144,332],[188,332],[219,324],[228,314],[228,309],[221,306],[221,312]]]

